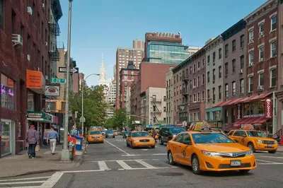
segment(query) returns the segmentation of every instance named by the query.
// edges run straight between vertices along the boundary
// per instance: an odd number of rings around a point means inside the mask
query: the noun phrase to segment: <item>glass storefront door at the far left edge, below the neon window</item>
[[[1,155],[11,154],[11,120],[1,119]]]

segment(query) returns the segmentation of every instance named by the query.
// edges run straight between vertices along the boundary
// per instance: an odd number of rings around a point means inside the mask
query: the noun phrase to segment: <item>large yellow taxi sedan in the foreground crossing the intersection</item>
[[[171,165],[192,166],[192,172],[197,175],[202,171],[239,170],[247,173],[258,166],[250,148],[209,128],[181,132],[168,142],[167,156]]]

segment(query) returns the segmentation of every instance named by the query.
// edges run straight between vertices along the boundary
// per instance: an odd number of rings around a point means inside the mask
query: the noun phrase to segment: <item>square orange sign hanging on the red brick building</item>
[[[40,71],[27,70],[26,87],[31,89],[42,88],[42,73]]]

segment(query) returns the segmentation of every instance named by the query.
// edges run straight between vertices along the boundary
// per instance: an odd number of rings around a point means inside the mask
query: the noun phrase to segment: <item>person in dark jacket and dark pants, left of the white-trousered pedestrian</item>
[[[30,129],[26,132],[25,141],[28,143],[28,158],[35,158],[35,147],[40,140],[40,136],[35,130],[35,126],[30,125]]]

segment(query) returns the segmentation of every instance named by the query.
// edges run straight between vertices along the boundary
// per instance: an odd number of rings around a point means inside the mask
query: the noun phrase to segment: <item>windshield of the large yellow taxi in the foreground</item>
[[[195,143],[233,143],[227,136],[219,133],[192,134],[192,139]]]

